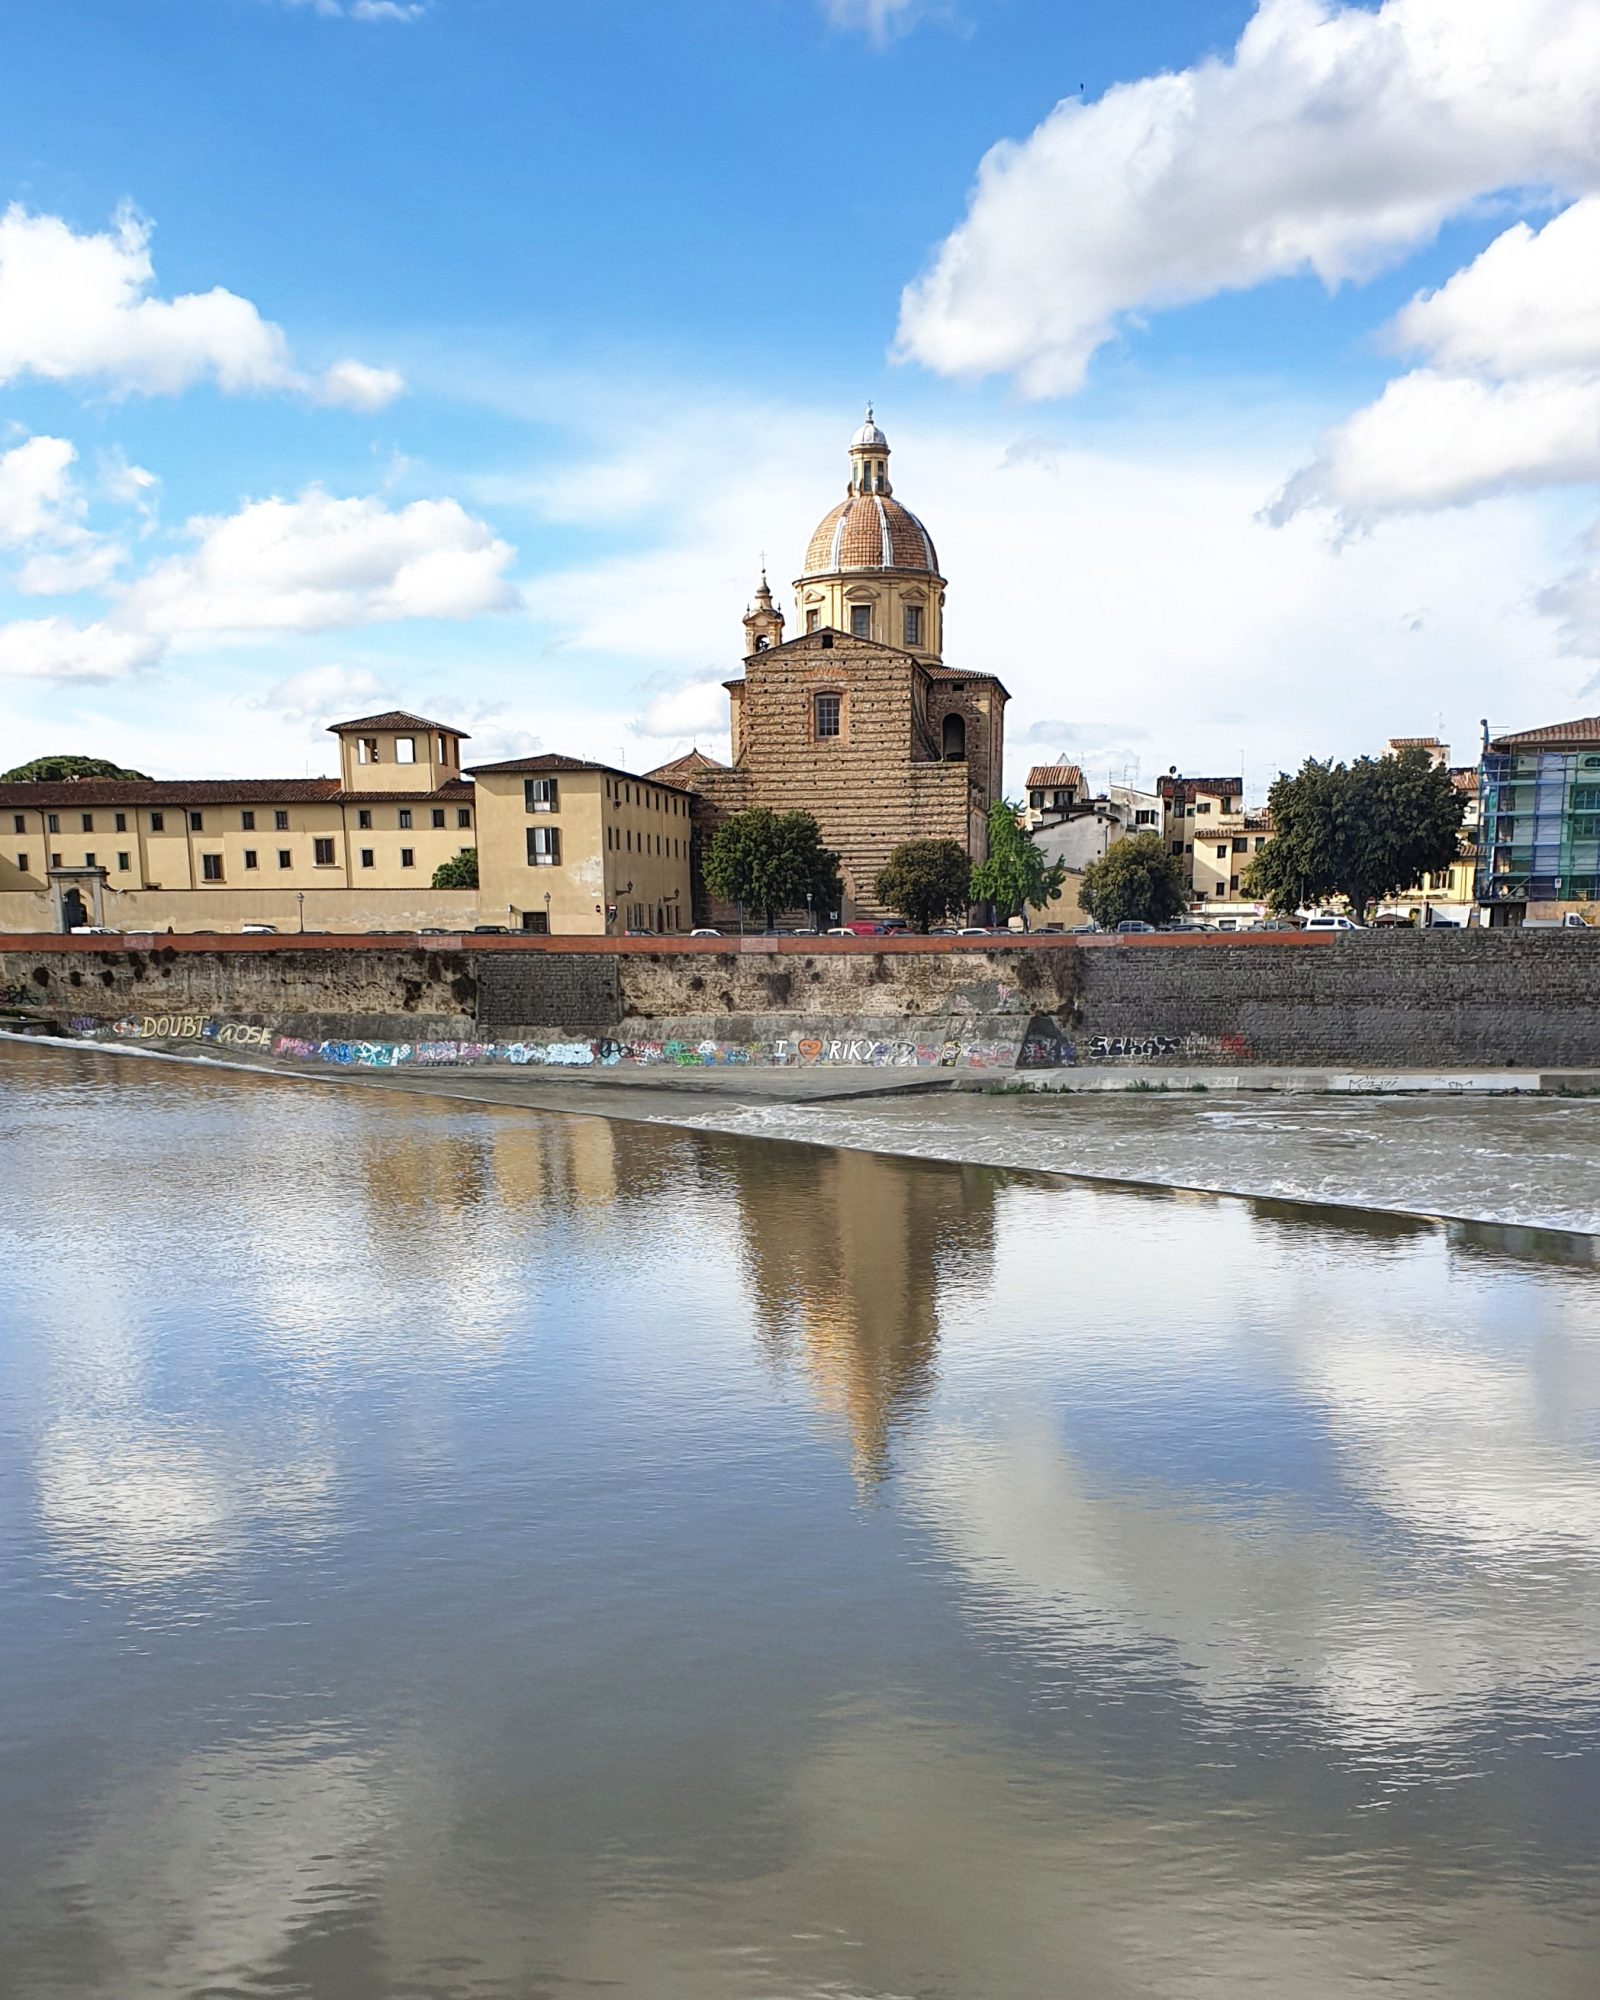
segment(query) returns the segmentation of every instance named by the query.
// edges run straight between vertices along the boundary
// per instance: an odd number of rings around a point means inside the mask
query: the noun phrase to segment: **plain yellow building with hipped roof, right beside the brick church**
[[[558,936],[690,930],[690,800],[576,756],[522,756],[472,770],[478,914]]]

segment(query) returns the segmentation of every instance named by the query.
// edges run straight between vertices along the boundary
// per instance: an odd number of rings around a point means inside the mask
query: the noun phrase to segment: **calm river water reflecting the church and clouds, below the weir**
[[[1592,2000],[1576,1240],[0,1048],[4,2000]]]

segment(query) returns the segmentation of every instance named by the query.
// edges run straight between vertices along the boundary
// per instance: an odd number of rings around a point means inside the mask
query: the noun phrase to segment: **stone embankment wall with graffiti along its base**
[[[1600,1066],[1600,932],[0,938],[0,1008],[334,1062]]]

